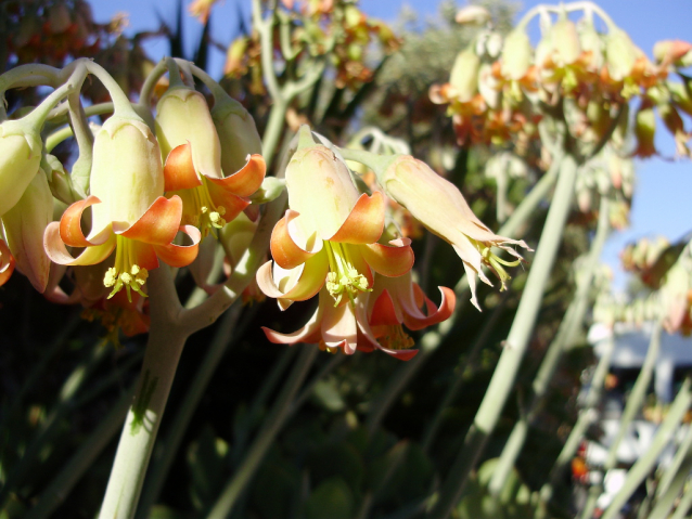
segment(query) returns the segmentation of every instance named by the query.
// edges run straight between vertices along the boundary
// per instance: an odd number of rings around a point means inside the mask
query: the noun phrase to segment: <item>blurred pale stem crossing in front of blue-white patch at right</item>
[[[644,363],[641,366],[641,371],[637,376],[637,381],[632,387],[629,397],[627,397],[627,403],[625,404],[625,411],[623,411],[623,416],[620,416],[620,424],[617,430],[617,434],[613,439],[613,443],[607,451],[607,457],[605,458],[605,463],[603,464],[604,472],[607,472],[610,469],[615,467],[617,463],[617,450],[619,447],[623,438],[627,434],[627,429],[631,424],[632,419],[639,411],[641,410],[644,399],[646,397],[646,391],[649,390],[649,384],[651,382],[651,377],[654,372],[654,367],[656,366],[656,359],[658,359],[658,351],[661,350],[661,335],[663,333],[662,320],[656,321],[651,330],[651,341],[649,342],[649,350],[646,351],[646,356],[644,358]]]

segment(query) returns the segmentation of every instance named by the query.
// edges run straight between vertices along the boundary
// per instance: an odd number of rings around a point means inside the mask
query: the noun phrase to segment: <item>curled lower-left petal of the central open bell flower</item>
[[[268,297],[277,299],[290,299],[292,301],[305,301],[315,296],[324,285],[326,273],[329,272],[329,260],[326,254],[318,254],[308,259],[303,268],[298,280],[292,286],[280,287],[277,285],[271,272],[271,261],[268,261],[257,271],[257,284],[261,291]],[[278,280],[282,285],[282,280]],[[291,282],[290,282],[291,283]],[[283,288],[289,288],[286,291]]]

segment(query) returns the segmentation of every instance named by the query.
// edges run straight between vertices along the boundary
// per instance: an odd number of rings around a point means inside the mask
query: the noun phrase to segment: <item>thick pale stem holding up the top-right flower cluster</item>
[[[526,288],[522,295],[505,341],[507,346],[500,355],[500,361],[490,379],[490,385],[480,403],[474,423],[466,433],[464,445],[457,456],[446,481],[443,483],[438,501],[428,514],[431,518],[441,519],[448,517],[459,501],[469,475],[483,454],[487,440],[495,430],[507,399],[514,386],[520,364],[524,359],[524,353],[540,310],[543,289],[550,277],[558,248],[562,241],[562,232],[567,221],[574,196],[576,173],[576,160],[572,155],[565,155],[561,161],[558,186],[548,211],[546,226],[528,273]]]

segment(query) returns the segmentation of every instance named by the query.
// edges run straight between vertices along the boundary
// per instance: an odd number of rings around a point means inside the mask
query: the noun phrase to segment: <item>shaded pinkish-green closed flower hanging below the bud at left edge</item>
[[[2,216],[4,235],[20,272],[39,293],[46,290],[51,261],[43,249],[43,232],[53,220],[53,195],[46,174],[39,172],[22,198]]]

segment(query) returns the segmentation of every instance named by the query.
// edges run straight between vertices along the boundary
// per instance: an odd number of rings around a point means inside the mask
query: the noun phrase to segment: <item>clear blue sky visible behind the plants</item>
[[[183,0],[185,5],[189,0]],[[517,2],[515,2],[517,3]],[[539,3],[527,0],[520,9],[520,16]],[[663,39],[692,41],[692,0],[601,0],[598,2],[625,29],[632,40],[649,55],[653,44]],[[435,0],[361,0],[360,5],[368,14],[384,20],[394,20],[402,5],[410,7],[421,16],[434,16],[438,2]],[[459,1],[461,7],[463,1]],[[105,21],[116,12],[127,12],[130,17],[128,34],[148,30],[157,26],[161,17],[175,24],[178,0],[118,0],[117,2],[92,1],[94,16]],[[238,30],[239,15],[249,18],[249,0],[222,0],[215,8],[212,18],[212,35],[219,43],[228,44]],[[185,46],[192,48],[197,41],[202,26],[187,16]],[[168,51],[165,40],[148,46],[151,57],[158,59]],[[220,75],[223,63],[221,52],[212,56],[212,70]],[[688,129],[690,120],[687,121]],[[657,145],[664,155],[672,157],[672,138],[662,129],[657,132]],[[625,275],[619,270],[618,254],[625,244],[636,238],[663,234],[675,241],[692,230],[692,163],[689,160],[667,161],[652,158],[637,163],[638,183],[631,211],[631,225],[616,232],[606,244],[603,260],[613,267],[616,286],[623,287]]]

